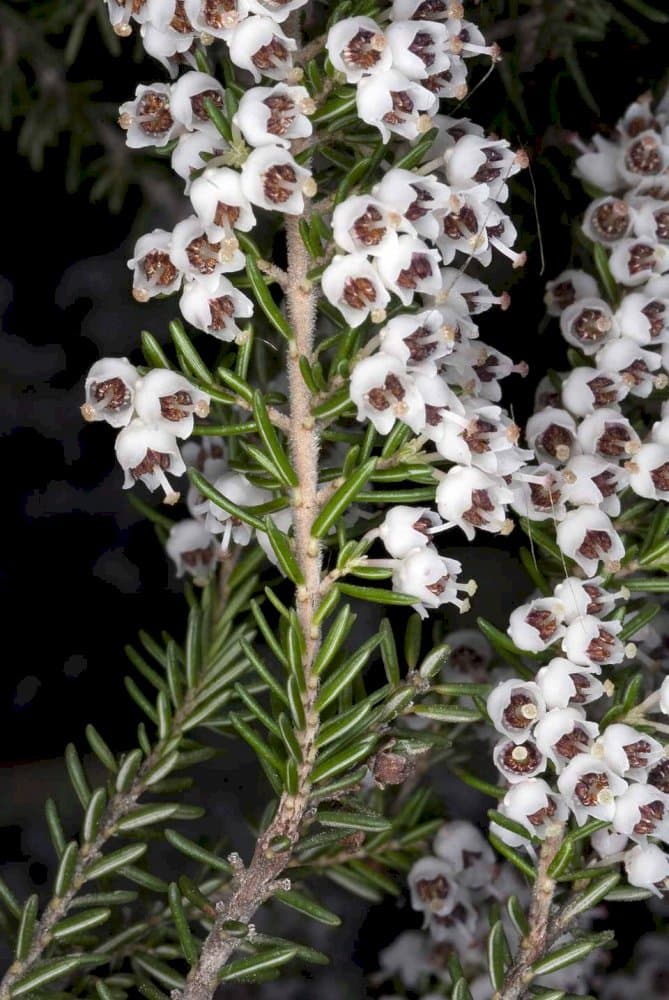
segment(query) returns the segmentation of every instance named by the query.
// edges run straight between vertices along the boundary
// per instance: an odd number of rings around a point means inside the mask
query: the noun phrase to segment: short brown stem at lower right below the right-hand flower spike
[[[523,1000],[532,982],[532,966],[550,945],[548,924],[555,894],[555,880],[548,875],[548,869],[562,844],[564,827],[544,840],[539,853],[537,877],[532,887],[530,903],[529,932],[520,942],[513,964],[506,974],[504,986],[495,993],[493,1000]]]

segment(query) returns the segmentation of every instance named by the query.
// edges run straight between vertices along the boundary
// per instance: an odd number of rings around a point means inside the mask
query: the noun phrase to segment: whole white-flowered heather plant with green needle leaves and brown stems
[[[96,361],[81,412],[114,428],[119,486],[183,578],[188,623],[130,650],[137,746],[87,727],[95,784],[67,748],[83,818],[66,831],[47,804],[49,898],[0,883],[15,955],[0,1000],[262,992],[328,961],[310,922],[334,935],[345,913],[322,880],[422,915],[379,955],[388,1000],[624,995],[603,972],[609,904],[669,886],[653,624],[669,590],[669,102],[643,97],[579,147],[592,266],[548,284],[569,369],[538,373],[521,428],[502,380],[527,365],[478,323],[526,261],[510,188],[531,197],[528,156],[460,114],[500,60],[461,4],[107,10],[160,64],[119,127],[183,186],[182,220],[137,240],[129,288],[178,316],[169,344],[142,333],[141,363]],[[463,541],[511,532],[528,540],[524,603],[506,632],[454,629],[476,605]],[[242,744],[263,788],[251,850],[199,786]],[[485,829],[465,785],[493,807]],[[298,940],[266,930],[284,908]],[[639,956],[662,968],[652,941]]]

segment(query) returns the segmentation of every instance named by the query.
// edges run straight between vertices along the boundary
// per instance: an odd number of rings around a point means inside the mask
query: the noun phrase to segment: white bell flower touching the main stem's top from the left
[[[311,173],[283,146],[259,146],[242,167],[242,191],[260,208],[302,215],[304,196],[312,197],[316,186]]]

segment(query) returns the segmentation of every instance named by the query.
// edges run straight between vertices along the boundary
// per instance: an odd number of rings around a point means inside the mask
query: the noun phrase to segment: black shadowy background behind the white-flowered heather
[[[511,276],[508,312],[487,314],[481,323],[484,340],[531,365],[524,383],[517,377],[507,382],[506,402],[519,422],[531,410],[533,388],[547,362],[560,367],[562,358],[555,329],[540,330],[544,281],[570,263],[572,220],[586,204],[570,175],[573,157],[565,133],[587,138],[610,127],[641,92],[658,86],[667,30],[659,27],[651,35],[646,44],[630,42],[612,25],[604,43],[581,46],[597,111],[585,103],[563,62],[543,59],[533,66],[530,58],[527,65],[527,54],[520,78],[524,117],[499,77],[484,83],[460,111],[525,146],[532,160],[531,177],[521,176],[510,202],[528,263]],[[513,34],[501,38],[507,48],[514,42]],[[92,27],[68,78],[101,80],[96,99],[108,110],[128,99],[137,82],[162,79],[163,72],[157,64],[136,62],[132,43],[113,58]],[[156,225],[171,228],[182,209],[180,189],[170,187],[161,165],[152,168],[143,190],[130,188],[117,214],[104,201],[91,202],[92,180],[68,193],[69,139],[49,150],[44,169],[35,173],[16,151],[20,127],[17,121],[0,135],[5,196],[0,861],[18,863],[9,866],[10,881],[30,865],[39,882],[45,841],[37,829],[22,833],[21,827],[34,827],[44,796],[62,780],[62,766],[53,759],[69,740],[82,746],[87,722],[115,749],[133,741],[139,720],[123,687],[123,647],[139,628],[158,632],[169,622],[178,634],[176,623],[183,617],[179,586],[153,529],[121,491],[114,432],[105,425],[84,426],[78,411],[83,379],[98,357],[129,354],[138,360],[143,328],[165,340],[176,303],[134,303],[125,261],[138,235]],[[98,149],[91,158],[108,155],[108,149]],[[9,208],[16,213],[11,223]],[[496,270],[490,283],[500,288],[510,272]],[[496,543],[498,555],[492,558],[489,543],[477,553],[465,551],[462,542],[449,539],[459,549],[453,554],[465,561],[466,575],[481,584],[476,610],[501,623],[525,586],[513,559],[516,539]],[[238,775],[219,773],[218,780],[221,785],[229,780],[235,794],[243,786],[252,804],[253,785]],[[230,799],[223,801],[229,818]],[[370,954],[398,929],[381,924],[372,919],[364,929]]]

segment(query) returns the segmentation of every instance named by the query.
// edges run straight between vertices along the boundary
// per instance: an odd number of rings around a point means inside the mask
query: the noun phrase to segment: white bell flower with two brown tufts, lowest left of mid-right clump
[[[415,434],[425,426],[425,402],[415,380],[389,354],[380,351],[356,364],[350,394],[358,420],[371,420],[379,434],[389,434],[397,418]]]

